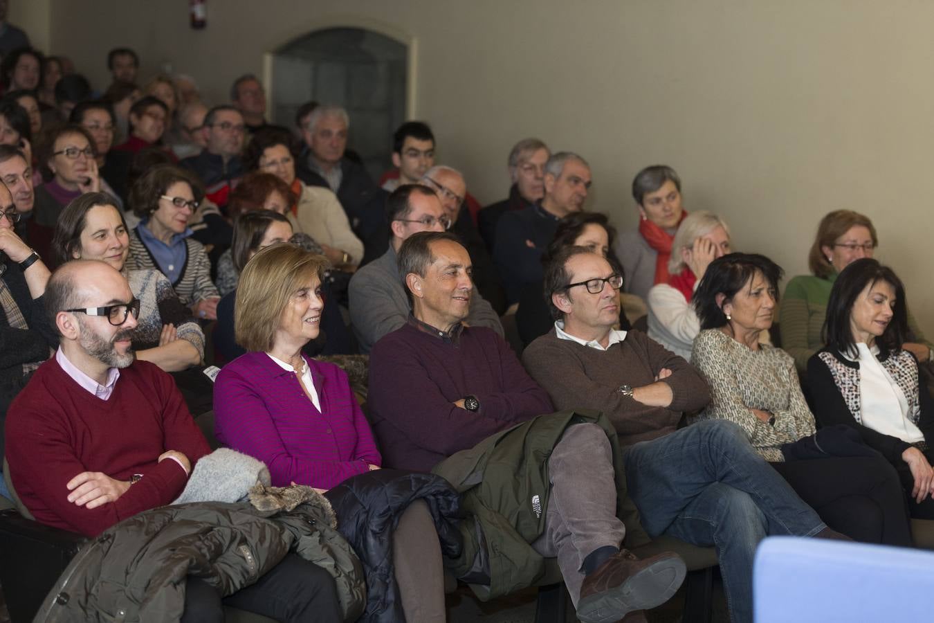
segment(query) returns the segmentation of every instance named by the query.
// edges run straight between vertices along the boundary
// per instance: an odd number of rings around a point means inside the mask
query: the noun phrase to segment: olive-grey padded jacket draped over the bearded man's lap
[[[344,620],[355,620],[365,599],[360,560],[331,527],[327,503],[318,501],[277,514],[209,502],[130,517],[78,552],[34,621],[177,621],[187,575],[228,596],[291,550],[331,573]]]

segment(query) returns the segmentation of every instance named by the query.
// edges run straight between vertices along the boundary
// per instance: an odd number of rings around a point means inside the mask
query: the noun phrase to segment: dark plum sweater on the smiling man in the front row
[[[467,395],[478,412],[454,403]],[[505,341],[484,327],[465,327],[455,346],[410,322],[370,353],[373,430],[383,466],[427,472],[494,432],[554,408]]]

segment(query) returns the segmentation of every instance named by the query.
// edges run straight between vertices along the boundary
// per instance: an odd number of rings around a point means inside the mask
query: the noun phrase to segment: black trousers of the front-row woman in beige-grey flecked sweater
[[[833,530],[855,541],[911,547],[899,474],[882,457],[771,463]]]

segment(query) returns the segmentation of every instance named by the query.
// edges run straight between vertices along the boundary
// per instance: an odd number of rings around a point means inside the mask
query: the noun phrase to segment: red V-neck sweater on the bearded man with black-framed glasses
[[[188,480],[166,450],[195,461],[210,452],[172,377],[147,361],[120,370],[107,401],[81,388],[52,357],[10,405],[7,461],[22,503],[41,523],[95,536],[126,517],[171,503]],[[67,500],[82,472],[117,480],[143,474],[116,503],[89,510]]]

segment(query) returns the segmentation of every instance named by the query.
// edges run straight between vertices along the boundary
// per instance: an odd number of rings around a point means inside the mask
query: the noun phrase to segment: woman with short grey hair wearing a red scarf
[[[646,166],[632,180],[632,198],[639,206],[639,229],[619,236],[616,255],[626,271],[623,288],[645,300],[652,286],[668,283],[674,234],[687,216],[681,178],[670,166]]]

